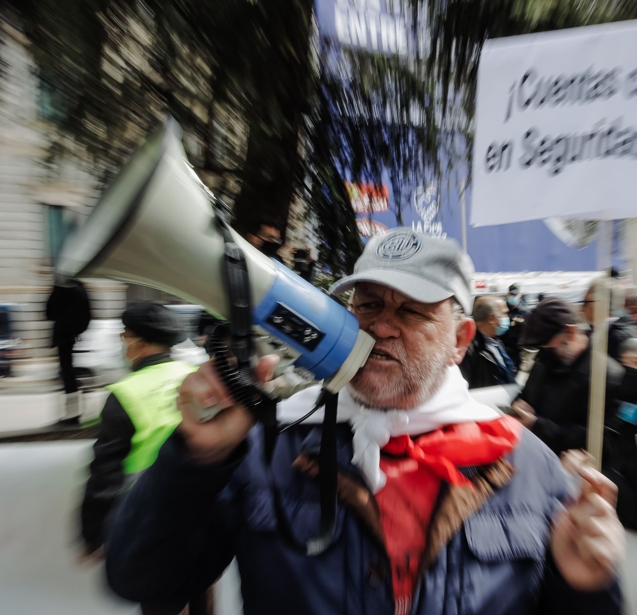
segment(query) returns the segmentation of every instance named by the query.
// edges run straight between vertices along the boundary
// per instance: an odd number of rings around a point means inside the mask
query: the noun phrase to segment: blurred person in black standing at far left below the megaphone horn
[[[47,320],[52,320],[52,347],[57,348],[60,375],[64,385],[64,404],[59,425],[79,425],[80,392],[73,369],[73,346],[78,336],[88,329],[90,302],[86,288],[78,279],[56,279],[47,301]]]

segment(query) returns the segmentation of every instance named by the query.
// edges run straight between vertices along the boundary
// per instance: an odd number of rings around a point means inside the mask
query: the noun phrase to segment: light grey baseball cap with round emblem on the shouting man
[[[354,273],[336,282],[335,295],[359,282],[382,284],[422,303],[455,297],[464,313],[473,304],[473,263],[454,239],[440,239],[407,227],[372,237],[354,266]]]

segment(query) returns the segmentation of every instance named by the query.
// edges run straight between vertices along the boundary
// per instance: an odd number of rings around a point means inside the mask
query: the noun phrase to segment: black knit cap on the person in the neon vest
[[[131,304],[122,314],[122,322],[126,329],[152,344],[170,348],[186,339],[175,314],[152,301]]]

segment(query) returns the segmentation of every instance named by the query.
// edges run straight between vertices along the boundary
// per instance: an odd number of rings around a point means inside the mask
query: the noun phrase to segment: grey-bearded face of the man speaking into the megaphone
[[[355,399],[378,409],[409,409],[430,399],[454,363],[452,300],[420,303],[387,286],[361,283],[351,307],[376,340],[350,382]]]

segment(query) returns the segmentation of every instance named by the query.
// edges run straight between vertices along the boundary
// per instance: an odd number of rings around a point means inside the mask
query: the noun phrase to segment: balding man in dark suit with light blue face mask
[[[469,388],[508,385],[515,382],[515,366],[497,339],[509,329],[506,303],[499,297],[479,297],[473,304],[476,336],[460,365]]]

